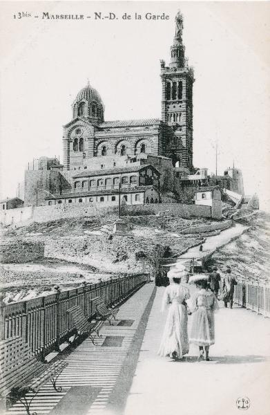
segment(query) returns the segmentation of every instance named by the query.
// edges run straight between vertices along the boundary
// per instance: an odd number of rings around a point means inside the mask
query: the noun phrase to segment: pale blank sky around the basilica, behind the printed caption
[[[18,19],[23,10],[31,17]],[[62,126],[88,80],[105,120],[161,117],[160,59],[169,61],[178,10],[195,71],[193,164],[215,172],[217,142],[218,174],[234,163],[245,193],[257,192],[270,210],[270,3],[258,1],[0,2],[1,199],[15,196],[28,162],[63,160]],[[43,12],[91,18],[41,19]],[[95,20],[95,12],[118,19]]]

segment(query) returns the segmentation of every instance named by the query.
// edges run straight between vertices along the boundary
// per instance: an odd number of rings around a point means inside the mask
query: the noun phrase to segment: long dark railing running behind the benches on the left
[[[95,315],[97,299],[108,306],[120,302],[129,293],[148,281],[148,274],[137,274],[97,284],[37,297],[28,301],[0,303],[0,341],[20,336],[35,354],[44,358],[50,351],[59,351],[60,344],[75,333],[68,308],[80,306],[87,318]]]

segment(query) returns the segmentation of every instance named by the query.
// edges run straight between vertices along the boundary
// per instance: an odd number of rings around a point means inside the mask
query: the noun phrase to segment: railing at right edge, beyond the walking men
[[[270,317],[270,284],[238,279],[233,301],[265,317]]]

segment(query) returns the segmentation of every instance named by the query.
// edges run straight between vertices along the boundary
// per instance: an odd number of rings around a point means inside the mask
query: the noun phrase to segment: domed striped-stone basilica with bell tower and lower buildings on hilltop
[[[160,62],[161,118],[106,121],[102,98],[88,82],[64,125],[63,163],[41,157],[37,168],[26,171],[26,206],[114,205],[120,188],[127,204],[191,201],[194,190],[209,185],[207,169],[193,167],[194,76],[182,31],[178,12],[171,60]]]

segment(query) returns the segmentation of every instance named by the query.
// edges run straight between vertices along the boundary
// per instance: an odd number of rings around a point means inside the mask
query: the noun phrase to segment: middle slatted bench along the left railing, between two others
[[[76,340],[76,338],[78,338],[80,335],[88,334],[91,342],[95,346],[96,344],[94,340],[96,336],[99,338],[102,337],[102,335],[99,334],[99,330],[102,328],[103,321],[97,320],[95,322],[88,322],[80,306],[71,307],[66,312],[72,316],[73,324],[77,331],[74,340]]]

